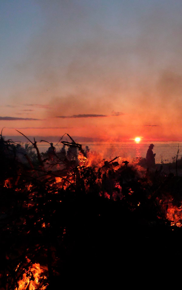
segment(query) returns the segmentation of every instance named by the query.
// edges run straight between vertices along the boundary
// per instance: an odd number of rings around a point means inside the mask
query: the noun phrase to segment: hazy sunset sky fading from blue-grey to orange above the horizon
[[[181,0],[2,0],[3,134],[182,140]]]

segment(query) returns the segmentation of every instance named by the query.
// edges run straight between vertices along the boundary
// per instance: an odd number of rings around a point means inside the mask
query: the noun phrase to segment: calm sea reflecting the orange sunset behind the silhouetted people
[[[89,146],[90,152],[98,153],[103,159],[112,160],[113,158],[121,157],[121,160],[132,161],[139,157],[146,157],[146,153],[149,145],[153,143],[153,153],[156,153],[156,163],[170,163],[173,162],[177,156],[178,146],[179,153],[178,158],[182,157],[182,142],[160,142],[150,141],[148,143],[136,143],[136,142],[82,142],[82,148]],[[37,143],[40,152],[45,152],[49,148],[49,143]],[[62,143],[53,144],[56,147],[56,152],[59,152],[62,148]],[[68,148],[68,147],[67,147]]]

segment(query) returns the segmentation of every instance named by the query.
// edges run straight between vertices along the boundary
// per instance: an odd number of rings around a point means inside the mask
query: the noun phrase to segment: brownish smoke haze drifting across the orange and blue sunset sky
[[[180,1],[34,3],[42,25],[21,63],[14,63],[12,102],[45,109],[44,127],[55,127],[59,116],[59,125],[80,126],[83,133],[88,125],[98,135],[100,128],[104,135],[112,130],[130,135],[127,126],[141,126],[144,133],[145,126],[152,134],[177,132],[177,122],[182,125]]]

